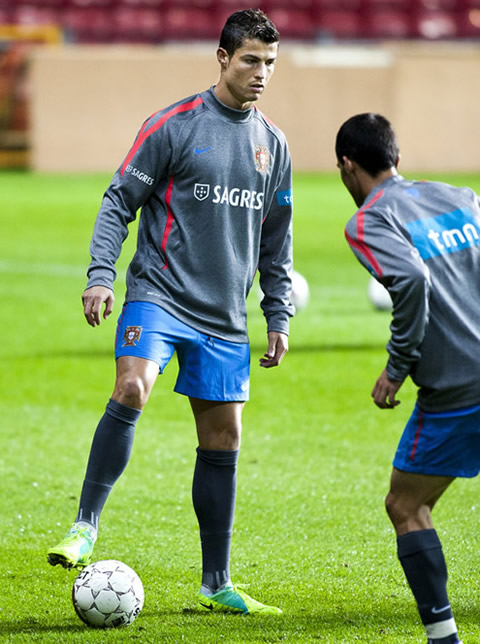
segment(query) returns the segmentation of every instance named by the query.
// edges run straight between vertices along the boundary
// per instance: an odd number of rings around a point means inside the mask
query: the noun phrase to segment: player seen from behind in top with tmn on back
[[[480,469],[480,198],[469,188],[401,177],[395,133],[378,114],[346,121],[336,156],[359,208],[347,241],[393,301],[389,356],[373,401],[391,410],[407,376],[418,387],[386,509],[428,643],[455,644],[431,513],[456,477]]]

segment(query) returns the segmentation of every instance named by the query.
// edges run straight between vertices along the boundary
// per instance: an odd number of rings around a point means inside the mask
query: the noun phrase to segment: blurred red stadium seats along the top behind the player
[[[73,43],[217,40],[233,11],[259,6],[282,39],[478,39],[480,0],[0,0],[2,26],[57,25]]]

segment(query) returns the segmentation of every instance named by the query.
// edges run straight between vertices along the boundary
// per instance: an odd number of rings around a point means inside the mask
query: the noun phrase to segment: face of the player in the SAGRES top
[[[221,75],[215,93],[222,103],[237,110],[251,107],[272,77],[277,53],[278,43],[257,39],[245,40],[231,57],[220,48]]]

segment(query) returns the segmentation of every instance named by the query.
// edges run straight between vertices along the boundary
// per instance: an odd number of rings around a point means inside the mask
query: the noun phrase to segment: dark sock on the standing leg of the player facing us
[[[238,453],[197,448],[192,498],[202,542],[202,587],[212,592],[230,580]]]

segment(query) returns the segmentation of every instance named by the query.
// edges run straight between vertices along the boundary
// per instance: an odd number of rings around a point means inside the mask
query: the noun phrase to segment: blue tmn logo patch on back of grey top
[[[469,208],[406,224],[422,259],[456,253],[480,244],[480,223]]]

